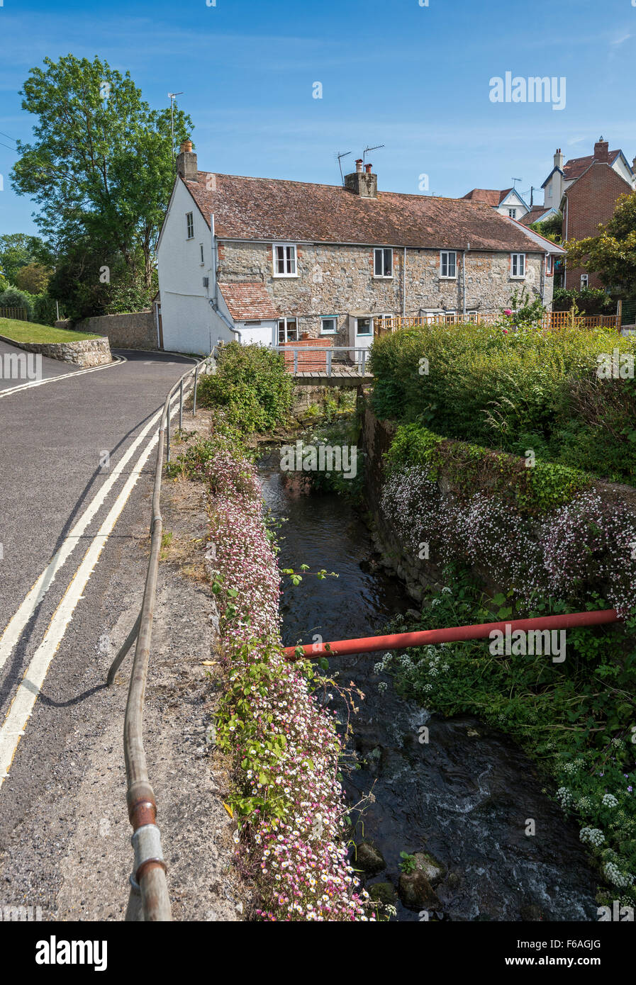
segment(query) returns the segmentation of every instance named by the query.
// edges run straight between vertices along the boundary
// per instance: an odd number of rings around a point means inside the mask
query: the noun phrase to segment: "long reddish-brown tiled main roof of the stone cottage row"
[[[522,230],[480,202],[198,171],[185,181],[221,239],[356,243],[432,249],[528,250]]]

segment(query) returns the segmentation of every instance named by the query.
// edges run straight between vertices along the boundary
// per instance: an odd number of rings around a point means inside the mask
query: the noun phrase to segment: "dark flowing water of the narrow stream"
[[[300,493],[285,485],[278,457],[260,462],[263,497],[281,530],[281,566],[309,564],[339,577],[285,587],[285,645],[368,636],[413,607],[400,582],[374,558],[369,532],[335,494]],[[446,719],[406,701],[374,667],[382,654],[334,657],[342,683],[365,692],[353,720],[351,746],[362,763],[345,775],[349,803],[372,788],[357,835],[372,839],[386,862],[367,880],[399,879],[400,851],[429,853],[445,876],[431,917],[445,920],[597,920],[597,875],[578,827],[541,793],[530,759],[500,732],[469,716]],[[429,729],[428,744],[418,729]],[[526,833],[532,819],[535,834]],[[358,840],[358,836],[356,840]],[[417,921],[417,909],[396,904],[397,919]]]

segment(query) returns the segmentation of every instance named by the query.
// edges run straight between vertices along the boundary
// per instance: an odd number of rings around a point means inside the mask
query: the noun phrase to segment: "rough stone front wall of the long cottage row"
[[[402,313],[403,250],[393,250],[393,277],[374,277],[370,246],[299,245],[298,277],[274,277],[270,243],[219,243],[219,281],[261,281],[281,315],[299,318],[301,333],[315,338],[320,317],[338,316],[337,344],[348,344],[347,315],[359,310],[375,314]],[[458,268],[461,254],[458,253]],[[542,254],[527,253],[524,280],[510,276],[510,253],[469,252],[466,256],[466,311],[496,312],[506,307],[523,286],[541,289]],[[545,303],[552,301],[552,278],[546,278]],[[421,309],[462,310],[461,270],[453,281],[440,278],[439,250],[406,252],[406,314]]]

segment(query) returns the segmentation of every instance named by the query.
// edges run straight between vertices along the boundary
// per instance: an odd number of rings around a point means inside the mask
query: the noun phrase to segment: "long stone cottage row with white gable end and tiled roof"
[[[344,186],[240,177],[198,170],[187,142],[158,246],[164,345],[364,347],[383,315],[468,318],[522,287],[549,307],[562,253],[489,205],[379,192],[362,162]]]

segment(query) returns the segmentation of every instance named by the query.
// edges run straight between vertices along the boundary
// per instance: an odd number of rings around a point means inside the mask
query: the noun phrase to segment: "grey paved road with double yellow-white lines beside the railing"
[[[0,393],[0,860],[55,776],[101,635],[143,583],[153,418],[192,361],[118,355]],[[122,609],[105,612],[114,581]]]

